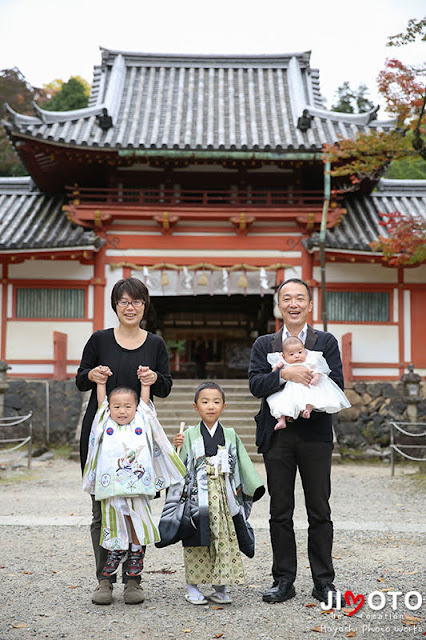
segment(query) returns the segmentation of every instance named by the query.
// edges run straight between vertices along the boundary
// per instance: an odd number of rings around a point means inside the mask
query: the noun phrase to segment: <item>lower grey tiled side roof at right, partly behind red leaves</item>
[[[353,194],[344,200],[347,213],[336,227],[327,229],[325,246],[329,249],[371,251],[370,242],[386,229],[379,223],[379,213],[399,211],[418,216],[426,222],[426,180],[381,179],[370,195]],[[318,245],[319,233],[309,239],[309,246]]]

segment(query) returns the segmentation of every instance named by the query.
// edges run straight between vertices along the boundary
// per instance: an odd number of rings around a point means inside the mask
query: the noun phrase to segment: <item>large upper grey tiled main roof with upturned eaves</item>
[[[310,52],[264,56],[179,56],[102,50],[89,106],[68,112],[9,108],[13,133],[65,145],[124,150],[318,151],[339,136],[389,129],[376,110],[323,108]],[[112,126],[98,118],[106,109]],[[298,128],[305,111],[310,127]]]

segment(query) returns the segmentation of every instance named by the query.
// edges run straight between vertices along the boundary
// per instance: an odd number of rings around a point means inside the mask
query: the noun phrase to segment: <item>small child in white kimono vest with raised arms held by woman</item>
[[[133,389],[118,387],[107,400],[106,384],[98,383],[97,395],[83,489],[102,502],[100,545],[108,550],[103,576],[113,576],[128,560],[126,573],[135,577],[146,545],[160,539],[149,501],[186,470],[157,420],[149,386],[141,385],[140,399]]]

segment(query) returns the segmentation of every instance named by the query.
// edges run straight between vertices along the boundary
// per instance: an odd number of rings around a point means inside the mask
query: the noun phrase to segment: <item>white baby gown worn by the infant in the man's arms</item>
[[[281,416],[288,416],[296,419],[303,412],[307,404],[313,405],[316,411],[325,411],[326,413],[337,413],[341,409],[350,407],[350,402],[337,386],[337,384],[328,377],[330,368],[321,351],[308,351],[305,362],[299,362],[298,365],[306,366],[314,373],[320,374],[317,385],[310,384],[309,387],[301,382],[285,383],[280,391],[272,393],[266,398],[271,414],[277,420]],[[284,362],[284,367],[294,367],[294,364],[288,364],[281,353],[268,353],[267,360],[274,368],[279,362]]]

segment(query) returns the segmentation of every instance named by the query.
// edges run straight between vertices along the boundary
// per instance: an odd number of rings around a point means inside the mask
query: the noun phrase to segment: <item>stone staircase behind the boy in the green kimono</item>
[[[233,427],[240,436],[253,462],[263,462],[263,456],[257,453],[255,444],[256,425],[254,416],[259,411],[260,400],[254,398],[248,388],[247,380],[215,380],[226,396],[226,409],[221,418],[224,427]],[[198,423],[198,414],[194,411],[195,389],[200,380],[173,380],[172,392],[168,398],[155,398],[158,419],[170,440],[179,431],[181,422],[185,428]]]

